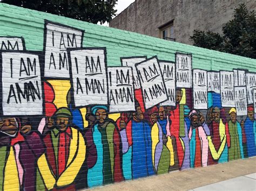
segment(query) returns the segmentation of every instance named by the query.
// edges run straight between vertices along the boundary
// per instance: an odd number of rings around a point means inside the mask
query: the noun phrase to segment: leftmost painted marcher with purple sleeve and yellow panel
[[[36,190],[36,161],[44,153],[41,137],[36,131],[31,131],[29,123],[21,126],[19,119],[14,117],[2,118],[0,129],[0,189]]]

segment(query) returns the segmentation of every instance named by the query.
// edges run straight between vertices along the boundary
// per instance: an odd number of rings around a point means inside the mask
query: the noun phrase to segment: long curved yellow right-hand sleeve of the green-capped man
[[[75,178],[85,160],[86,146],[85,146],[85,142],[84,142],[82,133],[80,133],[79,131],[73,133],[72,141],[74,141],[76,139],[75,136],[78,137],[78,139],[76,140],[76,143],[78,143],[78,146],[77,146],[77,144],[75,144],[74,146],[72,146],[70,144],[70,150],[77,150],[77,155],[75,155],[76,156],[75,159],[73,158],[70,165],[68,167],[66,167],[65,171],[60,175],[60,177],[57,181],[57,187],[70,185],[75,180]],[[77,148],[75,146],[77,146]]]

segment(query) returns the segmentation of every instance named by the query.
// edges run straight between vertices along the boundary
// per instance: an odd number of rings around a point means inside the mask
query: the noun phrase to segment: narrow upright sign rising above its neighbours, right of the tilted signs
[[[176,53],[176,86],[192,87],[192,55]]]

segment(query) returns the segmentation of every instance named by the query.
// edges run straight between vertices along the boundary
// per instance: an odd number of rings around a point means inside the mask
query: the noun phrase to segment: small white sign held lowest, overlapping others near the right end
[[[235,108],[237,109],[237,116],[247,115],[247,98],[246,87],[234,87]]]

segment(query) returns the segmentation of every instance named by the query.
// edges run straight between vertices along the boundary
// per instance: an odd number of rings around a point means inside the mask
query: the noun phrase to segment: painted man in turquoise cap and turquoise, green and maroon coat
[[[91,112],[96,118],[92,137],[97,150],[97,158],[94,159],[97,161],[88,169],[87,184],[92,187],[122,181],[122,155],[117,126],[109,119],[106,106],[92,107]]]

